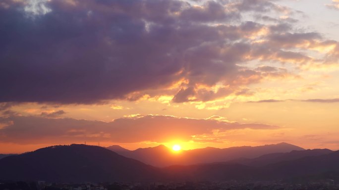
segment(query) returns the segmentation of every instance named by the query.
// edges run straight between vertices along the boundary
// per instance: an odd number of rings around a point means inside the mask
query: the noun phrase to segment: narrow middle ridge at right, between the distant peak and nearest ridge
[[[248,166],[264,166],[271,163],[277,163],[281,161],[295,160],[306,156],[318,156],[323,154],[332,153],[329,149],[313,149],[305,151],[291,151],[291,152],[278,152],[264,154],[257,158],[239,158],[231,160],[230,162],[239,163]]]

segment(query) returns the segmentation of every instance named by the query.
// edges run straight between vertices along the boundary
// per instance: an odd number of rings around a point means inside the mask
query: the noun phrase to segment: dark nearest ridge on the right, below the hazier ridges
[[[223,162],[164,168],[170,180],[253,180],[253,181],[308,181],[339,180],[339,151],[318,156],[281,161],[265,166],[245,166]]]

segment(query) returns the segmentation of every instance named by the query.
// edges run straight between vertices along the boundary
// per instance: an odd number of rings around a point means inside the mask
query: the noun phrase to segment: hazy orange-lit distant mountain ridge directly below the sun
[[[133,158],[157,167],[166,167],[170,165],[191,165],[198,163],[224,162],[236,158],[255,158],[263,154],[276,152],[291,152],[293,150],[301,151],[303,148],[279,143],[276,145],[264,145],[258,147],[231,147],[226,149],[217,149],[207,147],[204,149],[194,149],[173,153],[172,150],[164,145],[153,148],[137,149],[135,151],[125,151],[123,148],[108,148],[120,155]]]

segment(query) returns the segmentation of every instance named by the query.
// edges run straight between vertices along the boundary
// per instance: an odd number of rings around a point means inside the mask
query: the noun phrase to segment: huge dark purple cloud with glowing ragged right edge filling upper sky
[[[314,61],[303,50],[322,45],[320,34],[296,32],[282,19],[244,21],[246,12],[293,10],[271,0],[5,0],[0,102],[98,104],[161,95],[206,102],[290,74],[247,62]]]

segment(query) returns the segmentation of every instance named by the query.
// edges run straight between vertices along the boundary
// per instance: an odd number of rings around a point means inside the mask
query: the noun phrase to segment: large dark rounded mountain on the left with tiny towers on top
[[[159,169],[97,146],[53,146],[0,160],[2,180],[147,181]]]

